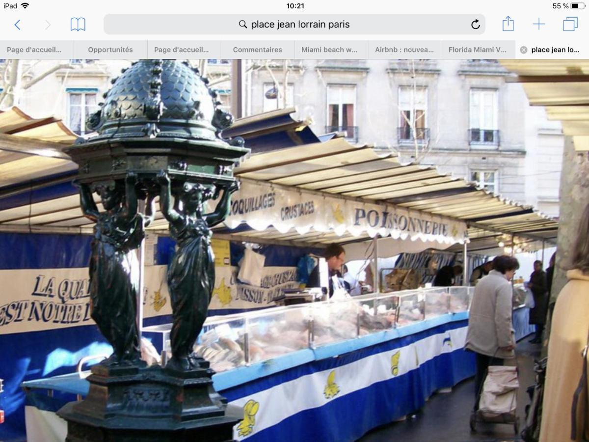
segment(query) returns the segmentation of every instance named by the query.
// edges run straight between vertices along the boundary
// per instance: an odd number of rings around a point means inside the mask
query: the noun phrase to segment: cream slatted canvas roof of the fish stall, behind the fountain
[[[277,134],[281,139],[284,139],[283,132],[291,131],[293,127],[299,128],[299,131],[309,129],[307,123],[292,120],[290,113],[293,111],[274,111],[269,113],[268,121],[264,120],[263,115],[237,121],[231,136],[257,139],[262,150],[260,153],[252,154],[236,167],[234,174],[237,177],[271,183],[274,186],[298,188],[305,192],[338,196],[342,199],[395,204],[406,209],[463,220],[469,224],[468,233],[471,240],[476,240],[479,236],[496,236],[499,233],[536,239],[553,239],[556,236],[557,221],[538,213],[533,207],[480,190],[475,183],[439,173],[435,167],[402,164],[394,151],[378,150],[371,146],[353,146],[338,136],[325,138],[326,141],[320,141],[319,137],[315,137],[314,142],[310,144],[299,144],[300,140],[293,140],[292,147],[263,151],[272,145],[272,140],[264,140],[262,136],[258,136],[252,125],[260,131]],[[292,123],[289,123],[289,118]],[[57,123],[54,121],[51,124]],[[62,134],[62,137],[62,141],[69,140],[69,143],[74,138],[67,133]],[[4,146],[4,143],[0,146]],[[55,141],[52,146],[55,149],[54,153],[61,152]],[[35,172],[35,178],[42,179],[32,182],[27,170],[13,170],[14,177],[8,180],[2,175],[0,229],[89,232],[92,224],[82,216],[78,207],[77,189],[70,184],[75,165],[62,156],[46,157],[37,153],[19,155],[32,158],[32,163],[56,163],[54,169],[49,171],[42,171],[42,167],[35,169],[39,170],[38,173]],[[11,166],[10,162],[6,164],[8,169],[16,167]],[[55,176],[55,170],[69,170],[70,173]],[[151,229],[167,230],[167,223],[161,213],[157,214]],[[240,240],[249,238],[252,241],[282,241],[301,245],[345,243],[369,238],[366,234],[354,237],[346,232],[342,236],[337,236],[334,232],[315,230],[310,230],[304,235],[295,230],[280,233],[273,228],[257,232],[247,227],[236,230],[221,227],[217,230],[217,235],[223,234]]]

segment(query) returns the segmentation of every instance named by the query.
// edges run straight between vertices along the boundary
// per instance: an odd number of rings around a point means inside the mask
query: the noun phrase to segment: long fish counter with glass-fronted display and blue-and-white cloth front
[[[209,318],[196,351],[218,371],[216,390],[243,410],[236,440],[352,441],[474,375],[464,351],[471,296],[424,289]],[[169,325],[145,331],[167,351]],[[57,384],[88,390],[78,374],[23,386],[31,403]]]

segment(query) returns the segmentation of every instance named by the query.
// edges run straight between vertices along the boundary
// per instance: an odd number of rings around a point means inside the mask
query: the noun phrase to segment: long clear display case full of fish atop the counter
[[[451,287],[369,293],[354,298],[211,316],[194,351],[217,372],[268,361],[304,348],[348,341],[448,313],[468,310],[474,288]],[[171,355],[171,324],[144,328]]]

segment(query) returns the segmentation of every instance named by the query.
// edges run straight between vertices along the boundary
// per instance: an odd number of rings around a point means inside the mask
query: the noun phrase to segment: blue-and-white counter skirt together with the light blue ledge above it
[[[362,338],[304,349],[213,376],[231,407],[243,408],[234,437],[247,441],[352,441],[418,410],[436,390],[474,374],[462,348],[467,314],[445,315]],[[86,394],[77,375],[30,382],[28,405],[55,411],[43,390]]]

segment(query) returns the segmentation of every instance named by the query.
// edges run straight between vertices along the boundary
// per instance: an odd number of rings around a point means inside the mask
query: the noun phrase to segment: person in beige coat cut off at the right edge
[[[589,206],[578,232],[568,282],[558,295],[552,315],[540,442],[581,441],[587,424],[584,392],[576,413],[577,436],[571,438],[573,397],[583,374],[582,353],[589,334]]]

